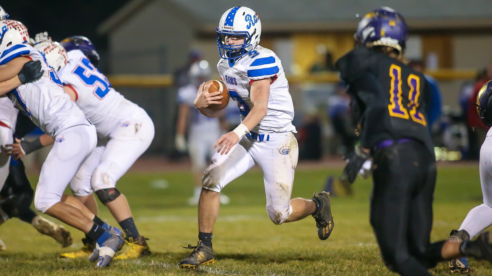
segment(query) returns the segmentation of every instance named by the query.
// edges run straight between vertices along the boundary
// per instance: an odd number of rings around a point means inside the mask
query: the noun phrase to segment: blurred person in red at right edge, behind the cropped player
[[[480,145],[485,139],[488,127],[482,123],[477,113],[477,107],[475,102],[477,101],[477,95],[480,88],[492,79],[492,63],[486,68],[486,74],[483,76],[477,76],[478,80],[473,86],[473,93],[468,99],[467,104],[467,125],[468,125],[468,137],[470,139],[470,159],[478,159],[480,156]]]

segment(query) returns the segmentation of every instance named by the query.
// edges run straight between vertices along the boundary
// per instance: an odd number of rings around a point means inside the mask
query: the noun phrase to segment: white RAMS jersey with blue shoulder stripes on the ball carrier
[[[220,59],[217,64],[220,79],[229,89],[229,95],[238,104],[241,121],[251,110],[249,97],[251,83],[273,78],[270,84],[267,115],[251,131],[257,133],[296,132],[292,125],[294,105],[289,93],[289,83],[285,78],[280,59],[275,53],[261,46],[231,64]]]

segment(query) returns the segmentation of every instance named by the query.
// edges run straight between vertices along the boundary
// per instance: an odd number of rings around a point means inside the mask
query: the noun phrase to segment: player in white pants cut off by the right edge
[[[486,126],[492,126],[492,81],[485,83],[477,95],[478,114]],[[471,209],[461,223],[459,230],[452,230],[449,240],[468,241],[492,225],[492,128],[480,148],[480,184],[484,203]],[[461,257],[450,261],[451,273],[470,274],[468,259]]]

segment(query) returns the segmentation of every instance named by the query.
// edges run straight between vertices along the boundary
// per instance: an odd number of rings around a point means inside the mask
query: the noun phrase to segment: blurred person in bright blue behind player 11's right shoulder
[[[408,63],[413,70],[424,74],[425,64],[421,59],[413,59]],[[441,106],[441,93],[439,91],[439,86],[436,80],[431,76],[424,74],[426,80],[431,84],[431,102],[427,106],[427,126],[432,131],[432,125],[441,116],[442,106]]]

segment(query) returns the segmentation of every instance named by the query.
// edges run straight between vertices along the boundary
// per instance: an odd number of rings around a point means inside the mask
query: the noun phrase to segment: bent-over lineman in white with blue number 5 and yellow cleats
[[[45,32],[36,35],[34,47],[44,53],[57,71],[65,93],[97,131],[97,146],[70,182],[70,189],[92,213],[97,214],[94,191],[122,227],[128,247],[115,259],[150,255],[149,246],[133,221],[126,197],[116,189],[116,182],[149,148],[154,139],[152,119],[144,109],[111,87],[97,70],[99,56],[88,38],[71,36],[59,44]],[[62,256],[73,258],[92,251],[95,241],[86,236],[83,242],[82,250]]]

